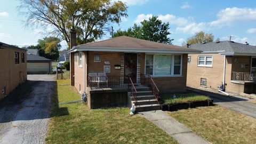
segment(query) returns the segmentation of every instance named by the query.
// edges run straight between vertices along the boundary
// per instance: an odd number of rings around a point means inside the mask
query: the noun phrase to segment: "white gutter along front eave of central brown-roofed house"
[[[105,52],[147,52],[147,53],[201,53],[201,51],[175,51],[175,50],[156,50],[153,48],[141,49],[125,49],[125,47],[85,47],[85,46],[75,46],[73,49],[69,50],[68,53],[76,51],[105,51]]]

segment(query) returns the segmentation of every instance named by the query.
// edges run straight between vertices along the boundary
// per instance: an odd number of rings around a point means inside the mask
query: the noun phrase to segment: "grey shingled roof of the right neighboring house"
[[[256,55],[256,46],[236,43],[232,41],[221,41],[193,44],[191,49],[203,51],[203,53],[220,53],[222,55]]]

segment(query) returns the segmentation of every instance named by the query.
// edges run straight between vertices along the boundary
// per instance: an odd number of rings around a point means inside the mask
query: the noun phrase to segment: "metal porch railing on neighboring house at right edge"
[[[256,73],[241,73],[232,71],[231,81],[253,81],[256,82]]]

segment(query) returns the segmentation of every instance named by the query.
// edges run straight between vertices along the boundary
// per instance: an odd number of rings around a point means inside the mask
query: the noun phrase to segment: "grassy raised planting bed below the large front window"
[[[162,94],[161,100],[163,103],[174,103],[174,102],[187,102],[187,101],[198,101],[198,100],[207,100],[210,99],[205,95],[198,95],[195,93],[177,93],[176,98],[173,98],[174,93],[172,94]]]

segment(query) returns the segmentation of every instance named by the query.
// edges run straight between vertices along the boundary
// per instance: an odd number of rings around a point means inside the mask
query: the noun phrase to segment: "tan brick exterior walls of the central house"
[[[83,66],[79,67],[78,52],[74,53],[74,70],[75,70],[75,87],[79,91],[79,84],[81,85],[81,92],[84,91],[84,57],[86,53],[83,52]],[[94,55],[100,55],[101,61],[94,62]],[[123,75],[124,71],[124,53],[123,52],[88,52],[87,72],[103,71],[104,66],[110,66],[110,73],[107,76]],[[169,92],[185,92],[187,81],[187,54],[182,57],[182,76],[181,77],[154,77],[154,81],[161,93]],[[76,61],[77,59],[77,61]],[[105,61],[110,64],[106,65]],[[86,65],[86,64],[85,64]],[[115,65],[121,65],[121,69],[115,69]],[[145,53],[138,53],[138,83],[140,84],[140,74],[145,74]],[[85,74],[87,75],[87,74]]]

